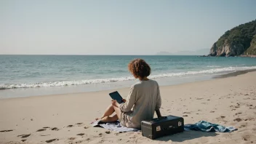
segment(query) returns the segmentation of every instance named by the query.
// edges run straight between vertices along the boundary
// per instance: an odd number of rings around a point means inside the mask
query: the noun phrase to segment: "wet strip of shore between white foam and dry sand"
[[[180,77],[176,77],[176,78],[172,78],[172,79],[153,79],[159,82],[159,86],[161,87],[168,87],[168,86],[175,86],[175,85],[180,85],[180,84],[190,84],[190,83],[194,83],[194,82],[198,82],[198,81],[210,81],[212,79],[223,79],[223,78],[228,78],[231,76],[239,76],[245,73],[249,73],[249,72],[253,72],[256,71],[256,69],[251,69],[251,70],[244,70],[244,71],[235,71],[235,72],[231,72],[231,73],[223,73],[220,75],[213,75],[213,76],[205,76],[205,78],[201,78],[201,76],[194,76],[194,79],[192,77],[184,77],[184,78],[180,78]],[[204,76],[204,75],[203,75]],[[186,79],[186,80],[184,80]],[[180,81],[181,80],[181,81]],[[168,82],[168,81],[176,81],[173,84]],[[132,86],[132,84],[135,84],[137,81],[135,80],[130,80],[130,81],[115,81],[115,82],[111,82],[111,83],[105,83],[104,84],[81,84],[81,85],[76,85],[76,86],[68,86],[68,87],[39,87],[39,88],[20,88],[20,89],[0,89],[0,92],[2,92],[2,94],[0,95],[0,100],[1,99],[9,99],[9,98],[22,98],[22,97],[41,97],[41,96],[49,96],[49,95],[72,95],[72,94],[79,94],[79,93],[84,93],[84,92],[103,92],[103,91],[113,91],[113,90],[119,90],[119,89],[128,89],[129,87]],[[125,84],[123,87],[114,87],[115,85],[119,85],[119,83],[127,83]],[[98,87],[95,88],[95,87]],[[102,87],[102,88],[100,88]],[[57,93],[50,93],[52,92],[51,89],[53,89],[52,91],[57,91]],[[66,89],[72,89],[72,92],[70,90],[67,90],[65,92]],[[64,90],[64,91],[63,91]],[[17,92],[16,92],[17,91]],[[27,93],[40,93],[40,95],[28,95],[28,96],[21,96],[21,97],[4,97],[4,92],[5,94],[8,92],[15,92],[17,93],[16,95],[21,95],[21,93],[26,92]],[[30,92],[31,91],[31,92]],[[39,91],[39,92],[37,92]],[[48,94],[48,93],[49,94]],[[60,92],[60,93],[58,93]],[[45,93],[45,94],[44,94]]]

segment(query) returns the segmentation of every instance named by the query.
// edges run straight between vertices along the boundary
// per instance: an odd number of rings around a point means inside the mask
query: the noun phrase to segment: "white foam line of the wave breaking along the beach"
[[[159,79],[166,77],[174,77],[174,76],[189,76],[196,75],[201,73],[221,73],[221,72],[232,72],[232,71],[243,71],[256,69],[256,66],[252,67],[228,67],[228,68],[214,68],[203,71],[187,71],[181,73],[163,73],[159,75],[149,76],[150,79]],[[15,88],[33,88],[33,87],[63,87],[63,86],[71,86],[71,85],[79,85],[79,84],[99,84],[99,83],[108,83],[114,81],[130,81],[134,80],[132,76],[129,77],[121,77],[121,78],[111,78],[111,79],[88,79],[81,81],[53,81],[53,82],[42,82],[36,84],[0,84],[0,89],[15,89]]]

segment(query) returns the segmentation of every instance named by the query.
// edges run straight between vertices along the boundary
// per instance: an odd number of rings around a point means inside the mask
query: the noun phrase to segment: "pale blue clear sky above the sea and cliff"
[[[155,55],[210,49],[255,0],[0,0],[0,55]]]

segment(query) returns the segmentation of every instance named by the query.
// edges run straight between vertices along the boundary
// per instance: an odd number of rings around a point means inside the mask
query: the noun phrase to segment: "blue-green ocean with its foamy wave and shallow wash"
[[[256,68],[256,59],[250,57],[0,55],[0,98],[129,87],[136,80],[127,64],[135,58],[151,65],[149,78],[160,85],[212,79]]]

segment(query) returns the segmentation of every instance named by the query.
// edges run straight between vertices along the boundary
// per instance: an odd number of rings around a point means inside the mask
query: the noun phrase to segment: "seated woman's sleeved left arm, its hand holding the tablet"
[[[120,108],[121,111],[124,111],[124,112],[131,111],[132,106],[135,104],[135,102],[136,102],[136,90],[135,90],[135,87],[132,86],[130,91],[129,91],[127,101],[125,103],[122,103],[119,106],[119,108]]]

